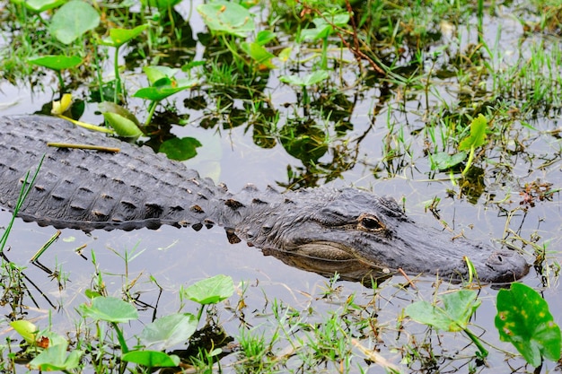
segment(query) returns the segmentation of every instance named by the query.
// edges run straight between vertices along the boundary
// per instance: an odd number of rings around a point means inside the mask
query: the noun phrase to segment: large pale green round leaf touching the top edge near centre
[[[253,14],[240,4],[221,0],[200,4],[197,9],[209,30],[240,38],[246,38],[248,33],[256,30]]]

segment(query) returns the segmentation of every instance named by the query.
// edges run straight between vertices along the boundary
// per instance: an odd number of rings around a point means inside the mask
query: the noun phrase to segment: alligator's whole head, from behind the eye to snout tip
[[[275,207],[241,222],[237,234],[259,248],[322,259],[355,257],[390,273],[401,268],[408,274],[468,279],[466,258],[485,283],[513,282],[529,270],[513,250],[453,239],[450,232],[417,224],[391,197],[352,188],[304,189],[283,196]]]

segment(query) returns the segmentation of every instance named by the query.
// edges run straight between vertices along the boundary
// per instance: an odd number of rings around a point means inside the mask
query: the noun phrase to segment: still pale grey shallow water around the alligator
[[[194,34],[202,26],[197,21],[194,13],[192,25]],[[500,19],[501,21],[502,19]],[[501,23],[497,19],[488,20],[487,39],[496,39],[496,24]],[[509,35],[509,32],[517,30],[517,23],[502,23],[502,39],[504,51],[517,53],[521,50],[517,47],[518,38]],[[509,31],[509,32],[508,32]],[[470,32],[467,31],[470,35]],[[527,40],[526,42],[530,42]],[[503,63],[507,63],[513,55],[505,52]],[[201,50],[198,50],[201,54]],[[507,58],[510,57],[510,58]],[[515,59],[513,60],[515,61]],[[451,81],[452,82],[452,81]],[[440,98],[451,98],[456,100],[457,88],[452,83],[443,80],[438,82],[438,95],[430,95],[427,98],[429,107],[426,108],[426,97],[416,92],[412,94],[412,100],[402,100],[403,92],[393,92],[390,100],[382,100],[382,109],[375,117],[371,114],[379,102],[380,91],[378,88],[362,91],[362,100],[356,104],[354,114],[350,118],[353,130],[344,136],[336,136],[332,148],[319,160],[327,165],[332,164],[336,152],[346,153],[344,158],[356,157],[355,167],[341,173],[342,178],[336,178],[328,184],[333,187],[355,186],[373,191],[378,195],[395,196],[398,200],[405,199],[407,212],[417,222],[440,228],[430,212],[426,212],[426,204],[438,197],[439,213],[444,222],[447,222],[456,233],[464,231],[470,238],[484,242],[494,242],[502,239],[506,227],[516,231],[522,238],[529,239],[534,235],[540,237],[539,242],[547,242],[550,256],[562,261],[560,255],[560,240],[562,238],[561,209],[559,195],[555,194],[551,201],[537,201],[536,206],[529,208],[526,212],[518,211],[507,221],[505,211],[520,206],[522,196],[521,186],[540,179],[558,187],[562,180],[560,170],[560,145],[556,134],[552,130],[558,129],[559,117],[556,114],[540,117],[532,122],[531,126],[536,128],[530,130],[527,127],[514,127],[506,133],[506,137],[521,141],[524,151],[514,152],[511,160],[501,160],[497,153],[492,152],[491,161],[498,163],[511,163],[513,168],[498,166],[496,170],[488,166],[484,177],[484,192],[469,202],[467,197],[452,198],[450,190],[458,192],[458,187],[453,186],[448,175],[445,173],[433,174],[430,170],[429,161],[424,155],[424,137],[416,135],[417,130],[426,126],[426,116],[431,116],[435,103]],[[293,107],[296,96],[293,90],[280,85],[277,77],[270,77],[269,83],[272,98],[283,115],[279,126],[284,125],[287,117],[296,117]],[[31,100],[30,100],[31,98]],[[178,95],[177,102],[184,97]],[[17,113],[33,113],[39,110],[43,103],[52,100],[49,93],[34,93],[15,88],[1,83],[0,102],[9,104],[0,109],[0,114],[9,115]],[[285,103],[290,103],[288,109],[282,109]],[[303,169],[303,163],[290,156],[277,142],[272,149],[260,148],[251,139],[251,130],[246,132],[245,126],[232,129],[216,128],[203,129],[198,126],[197,119],[201,112],[193,113],[193,124],[186,128],[174,129],[178,135],[189,135],[198,138],[203,147],[198,149],[199,156],[187,161],[189,167],[199,170],[203,176],[214,178],[215,181],[224,182],[231,190],[237,191],[246,183],[253,183],[263,189],[268,185],[277,186],[290,184],[287,169]],[[100,117],[93,114],[89,109],[84,116],[85,120],[99,122]],[[321,121],[319,120],[319,123]],[[401,128],[399,130],[398,128]],[[401,133],[400,133],[401,131]],[[329,128],[333,133],[333,129]],[[404,140],[399,141],[399,135]],[[349,142],[348,148],[342,148],[347,140],[355,140],[361,137],[357,148],[354,142]],[[404,144],[409,144],[408,152],[401,152],[397,157],[389,160],[385,158],[384,147],[390,145],[393,149],[399,149]],[[343,150],[343,151],[342,151]],[[402,149],[402,151],[404,151]],[[509,162],[507,162],[509,161]],[[552,161],[546,168],[540,168],[545,161]],[[323,176],[319,177],[319,184],[324,184]],[[278,187],[282,189],[281,187]],[[492,201],[505,200],[502,204],[487,204]],[[501,209],[500,209],[501,208]],[[502,210],[503,209],[503,210]],[[5,226],[9,222],[10,214],[0,213],[0,225]],[[25,274],[32,283],[37,285],[33,289],[30,283],[30,293],[34,299],[26,297],[26,304],[37,308],[25,310],[27,317],[48,318],[48,310],[53,311],[54,330],[64,334],[72,330],[76,315],[74,308],[86,301],[83,292],[92,286],[94,265],[92,265],[92,253],[94,251],[96,263],[105,281],[110,294],[119,296],[123,284],[134,282],[132,292],[138,295],[138,300],[145,302],[153,309],[147,309],[143,315],[143,322],[150,321],[153,313],[163,316],[176,311],[180,306],[179,290],[181,285],[189,285],[200,279],[215,274],[227,274],[233,277],[234,283],[246,283],[250,287],[245,293],[245,302],[248,305],[246,317],[253,325],[261,326],[268,331],[268,317],[260,316],[255,311],[268,310],[268,302],[271,300],[283,300],[294,308],[312,308],[313,316],[318,319],[325,317],[331,310],[338,309],[341,300],[323,300],[321,295],[328,282],[326,278],[318,274],[303,272],[302,270],[281,263],[274,257],[263,256],[258,248],[250,248],[244,243],[232,245],[228,243],[224,230],[214,228],[212,230],[201,230],[195,232],[191,229],[177,230],[170,227],[162,227],[160,230],[135,230],[123,231],[93,231],[86,235],[78,230],[63,230],[61,238],[48,251],[40,257],[40,261],[48,268],[58,268],[67,274],[67,281],[62,291],[58,284],[49,279],[48,274],[39,268],[29,264],[29,259],[48,238],[55,233],[53,228],[41,228],[35,223],[25,223],[16,220],[13,226],[8,246],[10,250],[5,254],[15,264],[28,266]],[[535,234],[536,233],[536,234]],[[83,257],[75,254],[75,248],[87,244],[83,250]],[[499,244],[494,244],[499,247]],[[142,251],[142,253],[141,253]],[[122,257],[136,256],[127,262]],[[528,257],[532,261],[532,257]],[[139,276],[140,275],[140,276]],[[150,282],[152,275],[157,283],[162,286],[163,292],[160,299],[158,287]],[[137,276],[139,276],[137,278]],[[384,284],[377,299],[377,312],[379,323],[386,326],[382,335],[384,344],[375,344],[382,354],[393,363],[400,362],[400,354],[392,352],[392,348],[405,344],[407,340],[393,330],[396,325],[397,316],[400,315],[412,300],[417,300],[418,295],[425,300],[432,300],[434,289],[433,277],[426,277],[418,283],[419,291],[403,290],[399,285],[403,282],[399,276],[394,277]],[[523,281],[536,289],[543,285],[540,276],[531,269]],[[544,291],[544,297],[549,302],[550,310],[555,316],[558,324],[562,323],[562,300],[558,291],[558,278],[552,278],[552,286]],[[358,300],[365,304],[373,298],[373,291],[358,283],[341,282],[341,298],[356,293]],[[442,286],[443,291],[446,286]],[[452,286],[454,288],[455,286]],[[239,289],[239,291],[241,288]],[[490,344],[496,344],[507,351],[514,352],[508,344],[498,342],[496,328],[493,324],[495,309],[496,290],[489,287],[480,293],[482,306],[477,312],[473,323],[481,327],[485,332],[483,338]],[[231,303],[236,302],[236,296]],[[52,308],[54,306],[55,308]],[[194,312],[195,305],[188,305],[186,311]],[[0,307],[3,315],[13,312],[8,305]],[[185,309],[184,309],[185,310]],[[22,310],[15,310],[21,313]],[[230,335],[237,335],[241,322],[229,309],[221,309],[221,320]],[[312,317],[313,318],[313,317]],[[142,328],[136,324],[133,331]],[[411,330],[409,330],[411,329]],[[408,322],[408,331],[416,331],[423,335],[424,326],[416,326],[414,322]],[[12,332],[0,331],[2,335],[11,335]],[[439,335],[441,342],[436,344],[443,349],[443,354],[463,355],[472,354],[473,347],[466,347],[468,339],[455,340],[459,335]],[[403,340],[400,340],[403,339]],[[373,347],[370,347],[373,348]],[[505,371],[504,356],[494,354],[489,359],[490,367],[486,372]],[[515,368],[522,365],[522,360],[510,361]],[[468,372],[466,365],[461,365],[458,370],[453,370],[455,361],[448,364],[443,370],[457,372]],[[549,367],[552,364],[549,363]],[[369,372],[380,372],[380,368],[371,366]]]

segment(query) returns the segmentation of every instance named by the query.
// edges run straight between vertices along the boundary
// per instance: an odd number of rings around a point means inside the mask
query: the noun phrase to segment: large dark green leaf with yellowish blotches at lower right
[[[560,360],[560,327],[549,304],[537,291],[522,283],[497,293],[496,328],[500,339],[511,342],[527,362],[540,366],[542,357]]]

